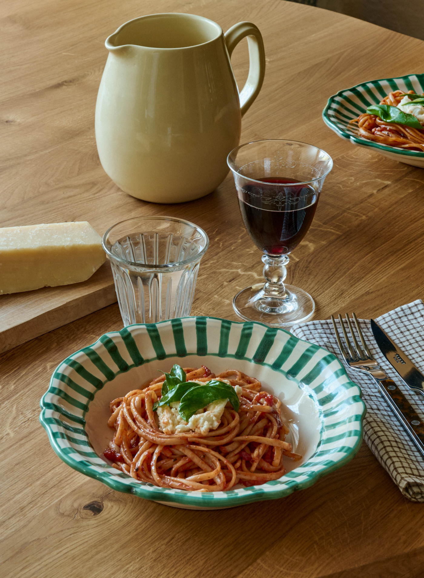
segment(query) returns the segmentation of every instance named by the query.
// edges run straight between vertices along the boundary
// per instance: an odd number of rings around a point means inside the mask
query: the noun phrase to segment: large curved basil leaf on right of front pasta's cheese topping
[[[238,411],[239,401],[234,387],[223,381],[212,379],[199,387],[191,388],[183,395],[178,407],[178,413],[185,421],[189,421],[198,409],[203,409],[208,403],[217,399],[229,399],[235,411]]]

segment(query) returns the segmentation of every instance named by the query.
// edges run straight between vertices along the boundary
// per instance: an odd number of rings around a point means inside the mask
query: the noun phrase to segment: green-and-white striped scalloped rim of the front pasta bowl
[[[207,324],[208,320],[211,320],[212,323],[219,322],[220,323],[220,342],[219,342],[219,350],[215,353],[208,352],[208,343],[207,343]],[[178,323],[179,321],[179,323]],[[171,324],[172,331],[174,332],[175,336],[175,329],[177,332],[183,331],[183,321],[185,323],[193,323],[196,327],[196,336],[197,336],[197,349],[196,351],[187,352],[186,346],[184,345],[184,351],[181,349],[180,353],[185,353],[185,355],[178,355],[178,347],[177,343],[175,343],[177,353],[174,352],[167,354],[163,348],[161,339],[160,339],[160,326],[163,324]],[[234,354],[228,354],[228,338],[230,335],[231,327],[241,326],[241,332],[239,335],[239,343],[237,346],[237,350]],[[262,339],[260,341],[259,346],[257,346],[253,357],[246,357],[246,351],[248,350],[249,342],[252,337],[253,332],[253,325],[259,325],[266,329],[264,332]],[[134,339],[128,338],[128,335],[131,335],[130,329],[131,327],[134,328],[146,328],[146,332],[152,342],[153,348],[155,353],[157,354],[156,357],[146,359],[141,356],[141,354],[134,351],[135,341]],[[125,339],[124,339],[124,336]],[[275,338],[277,335],[285,334],[287,337],[285,339],[285,343],[282,346],[282,351],[276,358],[274,362],[267,362],[266,358],[268,353],[271,350],[271,347],[274,344]],[[134,361],[133,364],[128,364],[121,354],[119,353],[118,348],[116,347],[115,343],[113,343],[112,338],[119,336],[122,340],[123,344],[126,346],[128,353],[130,353],[132,360]],[[154,342],[154,343],[153,343]],[[337,416],[337,409],[334,407],[329,407],[326,410],[326,405],[331,402],[333,399],[333,393],[330,392],[328,395],[318,398],[317,392],[314,389],[310,388],[307,384],[300,382],[298,386],[305,390],[309,397],[314,400],[315,405],[318,407],[319,417],[322,421],[322,428],[320,432],[320,442],[315,453],[309,458],[305,464],[302,464],[296,470],[292,472],[288,472],[285,476],[282,477],[280,480],[274,480],[264,484],[264,486],[253,486],[249,488],[242,488],[241,490],[231,490],[228,492],[202,492],[196,494],[195,492],[183,492],[181,490],[169,490],[168,488],[158,488],[156,486],[150,486],[150,484],[143,484],[132,480],[131,477],[125,475],[123,472],[118,472],[117,470],[113,469],[111,466],[103,462],[102,464],[97,464],[95,462],[90,462],[91,460],[101,461],[101,458],[98,457],[97,454],[93,451],[87,451],[87,446],[91,447],[88,436],[85,432],[85,420],[84,416],[88,410],[88,405],[84,404],[76,399],[73,399],[67,392],[61,391],[58,385],[60,383],[71,384],[71,387],[75,388],[78,392],[80,397],[85,397],[87,401],[93,397],[95,391],[98,391],[102,388],[105,383],[108,383],[111,379],[108,377],[113,378],[120,373],[127,372],[128,370],[142,365],[144,363],[149,363],[150,361],[154,360],[162,360],[168,357],[185,357],[186,355],[200,355],[199,351],[205,352],[204,355],[211,355],[213,357],[228,357],[237,360],[246,360],[250,361],[256,365],[264,365],[267,366],[274,371],[289,377],[289,379],[294,379],[294,376],[287,376],[287,372],[281,369],[284,361],[292,355],[296,345],[298,343],[305,344],[301,349],[302,353],[299,354],[299,358],[304,360],[303,368],[311,362],[314,358],[314,355],[317,351],[323,351],[324,356],[320,357],[314,363],[314,366],[308,368],[308,373],[305,378],[311,383],[319,377],[320,372],[325,370],[327,366],[330,364],[337,365],[337,374],[338,376],[331,380],[331,385],[334,384],[334,390],[337,391],[345,391],[349,393],[349,397],[344,398],[340,403],[337,405],[340,407],[344,407],[346,404],[348,405],[358,405],[356,408],[352,408],[353,414],[349,416],[349,419],[342,420],[342,421],[333,421],[333,423],[328,423],[326,425],[326,419],[332,418],[333,416]],[[110,355],[111,360],[115,362],[118,366],[117,371],[113,371],[109,366],[105,366],[104,360],[97,354],[95,351],[96,347],[102,347],[105,352]],[[131,351],[130,351],[131,350]],[[285,357],[283,358],[283,352]],[[307,355],[304,355],[307,352]],[[76,361],[74,358],[78,357],[80,354],[84,355],[87,360],[89,360],[98,370],[105,375],[108,375],[105,380],[101,381],[98,380],[93,374],[91,374],[88,370],[81,372],[78,369],[81,364]],[[82,373],[86,376],[90,377],[90,384],[93,388],[93,392],[83,388],[82,386],[78,386],[70,377],[64,374],[65,368],[64,366],[68,365],[70,369],[76,370],[78,375]],[[276,366],[279,365],[279,366]],[[295,370],[300,373],[302,369],[299,364],[299,359],[291,366],[292,370]],[[87,373],[85,373],[87,372]],[[317,373],[318,372],[318,373]],[[57,374],[60,374],[60,379],[58,379]],[[311,379],[314,377],[314,379]],[[94,378],[94,379],[93,379]],[[326,378],[329,379],[328,377]],[[101,381],[101,384],[99,383]],[[327,383],[329,385],[329,383]],[[76,386],[76,387],[75,387]],[[316,387],[316,390],[319,390],[319,387]],[[319,391],[318,391],[319,393]],[[55,396],[60,397],[61,399],[65,399],[68,403],[71,403],[73,407],[75,407],[75,414],[70,413],[64,407],[57,405],[54,403]],[[300,490],[306,487],[311,486],[316,479],[325,475],[326,473],[330,473],[334,469],[337,469],[345,462],[349,461],[353,455],[355,455],[356,451],[359,449],[360,444],[362,442],[362,420],[364,414],[366,412],[365,405],[361,399],[361,392],[360,388],[356,386],[356,384],[352,383],[349,380],[341,362],[334,357],[334,355],[329,354],[326,350],[318,346],[312,346],[312,344],[304,342],[303,340],[294,338],[293,335],[289,334],[289,332],[285,331],[284,329],[275,329],[269,328],[267,325],[263,325],[260,323],[253,324],[252,322],[238,322],[238,321],[228,321],[222,320],[217,317],[185,317],[182,320],[167,320],[161,321],[156,324],[149,324],[149,325],[130,325],[129,327],[125,328],[121,332],[111,332],[110,334],[105,334],[101,336],[95,343],[93,343],[89,347],[84,347],[79,351],[76,351],[70,357],[67,358],[64,362],[62,362],[58,368],[53,373],[51,377],[49,390],[47,390],[46,394],[43,395],[40,406],[42,407],[42,412],[40,413],[40,422],[43,427],[46,429],[46,432],[49,436],[50,444],[53,447],[54,451],[57,455],[71,466],[73,469],[78,470],[81,473],[84,473],[87,476],[93,477],[99,481],[102,481],[109,487],[113,488],[117,491],[123,492],[130,492],[133,494],[138,495],[141,498],[147,498],[162,502],[178,502],[182,505],[189,505],[189,506],[198,506],[198,507],[225,507],[225,506],[237,506],[242,505],[244,503],[249,503],[253,501],[259,501],[263,499],[279,499],[285,497],[286,495],[291,494],[295,490]],[[51,399],[53,397],[53,399]],[[330,401],[326,401],[325,398],[331,398]],[[326,415],[327,411],[327,415]],[[61,421],[61,419],[57,416],[64,416],[67,421]],[[342,433],[337,432],[337,428],[342,427],[343,424],[352,424],[352,427],[355,426],[356,428],[348,429]],[[325,432],[329,433],[329,437],[325,438]],[[74,437],[72,433],[75,435],[82,436],[81,439],[78,437]],[[329,448],[325,450],[325,446],[327,444],[334,443],[335,440],[342,440],[352,439],[352,446],[344,446],[343,448]],[[65,445],[64,445],[65,444]],[[67,444],[67,445],[66,445]],[[338,456],[337,460],[329,460],[331,456]],[[327,460],[323,460],[324,457],[327,457]],[[78,459],[80,458],[80,459]],[[325,465],[325,467],[324,467]]]

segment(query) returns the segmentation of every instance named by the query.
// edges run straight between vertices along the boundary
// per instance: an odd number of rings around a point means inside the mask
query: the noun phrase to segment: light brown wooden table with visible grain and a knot
[[[314,223],[288,279],[316,317],[363,317],[422,297],[424,171],[359,149],[322,121],[327,97],[360,81],[421,72],[424,43],[281,0],[3,0],[1,225],[88,220],[99,231],[134,214],[204,227],[193,313],[236,319],[236,291],[261,278],[231,176],[213,194],[161,206],[121,192],[99,164],[94,106],[117,25],[152,12],[193,12],[227,29],[260,28],[267,73],[242,142],[291,138],[334,159]],[[247,51],[233,64],[246,77]],[[423,506],[406,501],[367,446],[344,468],[281,501],[191,512],[110,490],[74,472],[38,422],[52,370],[119,329],[112,305],[0,357],[1,572],[10,578],[424,576]]]

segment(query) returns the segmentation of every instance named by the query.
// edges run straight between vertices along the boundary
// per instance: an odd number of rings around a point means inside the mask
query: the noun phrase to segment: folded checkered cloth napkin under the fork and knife
[[[424,373],[424,303],[418,300],[397,307],[375,321]],[[375,360],[379,362],[386,375],[399,386],[419,416],[424,418],[424,396],[416,394],[402,383],[399,375],[378,349],[370,321],[360,320],[359,323]],[[331,320],[295,325],[291,331],[296,337],[331,351],[341,360]],[[424,502],[424,458],[386,405],[372,377],[344,365],[350,379],[362,389],[363,401],[367,406],[367,415],[364,419],[365,442],[405,498],[413,502]]]

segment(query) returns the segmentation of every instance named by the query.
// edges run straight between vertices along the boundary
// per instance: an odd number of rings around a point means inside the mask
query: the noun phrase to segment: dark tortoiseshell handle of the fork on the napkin
[[[403,425],[416,448],[424,456],[423,420],[392,379],[378,379],[376,381],[390,409]]]

